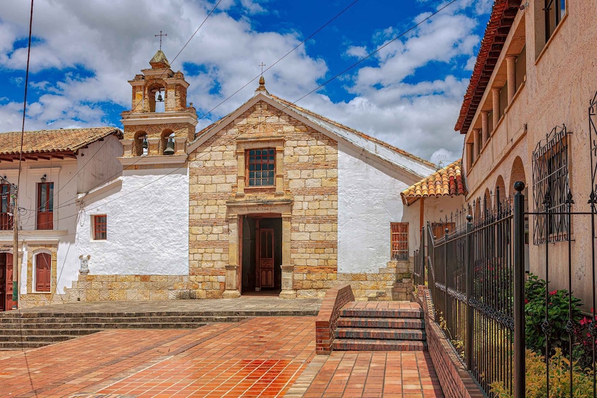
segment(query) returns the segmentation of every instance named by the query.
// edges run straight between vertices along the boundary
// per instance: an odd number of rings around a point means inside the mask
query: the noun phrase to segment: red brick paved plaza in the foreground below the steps
[[[427,352],[316,356],[313,316],[106,330],[0,352],[1,397],[443,397]]]

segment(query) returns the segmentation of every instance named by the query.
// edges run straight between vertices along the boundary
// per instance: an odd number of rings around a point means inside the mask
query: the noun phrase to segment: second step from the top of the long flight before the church
[[[38,317],[38,318],[0,318],[0,325],[4,328],[11,325],[48,324],[73,325],[73,323],[196,323],[196,322],[238,322],[248,316],[89,316],[77,318]],[[58,326],[57,326],[58,327]]]

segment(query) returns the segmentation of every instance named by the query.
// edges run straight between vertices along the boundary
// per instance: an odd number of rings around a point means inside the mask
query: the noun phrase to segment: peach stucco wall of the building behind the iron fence
[[[505,54],[522,40],[526,44],[526,80],[520,86],[512,104],[505,109],[496,129],[491,132],[480,156],[467,170],[469,201],[484,194],[486,189],[495,193],[496,182],[501,176],[507,192],[522,180],[522,173],[515,173],[515,161],[522,160],[524,180],[529,187],[529,211],[536,211],[532,194],[532,153],[537,144],[546,144],[546,135],[555,126],[566,125],[572,132],[569,138],[568,178],[574,195],[572,211],[590,211],[587,201],[591,192],[591,158],[589,149],[588,106],[597,92],[595,61],[586,54],[594,51],[597,31],[597,4],[594,1],[567,2],[567,12],[560,25],[543,46],[544,35],[541,1],[529,1],[524,11],[519,11],[504,50],[498,59],[488,87],[500,86],[496,81],[505,78]],[[515,35],[516,32],[516,35]],[[574,60],[574,62],[570,62]],[[519,82],[517,82],[518,84]],[[491,108],[491,92],[486,89],[481,100],[484,108]],[[472,121],[472,128],[481,127],[481,106]],[[470,139],[472,128],[467,139]],[[465,151],[466,152],[466,151]],[[467,160],[464,160],[467,164]],[[520,167],[518,167],[520,169]],[[512,175],[515,178],[512,178]],[[530,268],[541,278],[548,278],[550,287],[567,288],[567,243],[550,244],[550,273],[545,272],[545,245],[534,245],[534,220],[529,220]],[[572,220],[572,290],[585,303],[591,301],[591,233],[590,217],[574,216]],[[590,305],[586,308],[590,308]]]

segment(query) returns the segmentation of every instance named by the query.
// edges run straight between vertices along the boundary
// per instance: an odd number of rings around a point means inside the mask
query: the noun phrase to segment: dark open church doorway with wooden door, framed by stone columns
[[[282,218],[279,214],[242,216],[241,294],[282,290]]]

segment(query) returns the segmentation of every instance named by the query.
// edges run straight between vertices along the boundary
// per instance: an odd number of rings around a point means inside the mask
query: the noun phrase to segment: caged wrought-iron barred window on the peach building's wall
[[[554,128],[547,142],[533,152],[534,244],[567,240],[568,132],[566,126]]]

